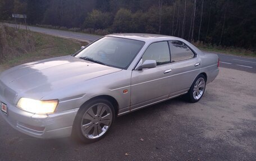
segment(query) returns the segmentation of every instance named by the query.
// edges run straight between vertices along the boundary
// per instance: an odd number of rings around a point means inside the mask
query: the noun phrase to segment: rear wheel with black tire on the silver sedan
[[[195,103],[198,102],[205,91],[206,78],[204,75],[200,74],[196,77],[193,84],[191,85],[186,98],[189,102]]]

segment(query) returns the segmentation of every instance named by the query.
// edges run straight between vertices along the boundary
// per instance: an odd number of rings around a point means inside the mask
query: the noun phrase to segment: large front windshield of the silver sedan
[[[106,66],[127,69],[144,42],[106,36],[88,45],[75,57]]]

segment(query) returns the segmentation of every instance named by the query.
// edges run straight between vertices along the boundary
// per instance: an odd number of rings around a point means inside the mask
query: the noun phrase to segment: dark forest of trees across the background
[[[255,51],[255,0],[0,0],[0,20],[94,34],[153,33]]]

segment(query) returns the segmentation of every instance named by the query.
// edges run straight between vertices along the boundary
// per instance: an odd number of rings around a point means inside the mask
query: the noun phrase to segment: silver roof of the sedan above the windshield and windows
[[[106,36],[113,36],[118,38],[134,39],[143,42],[156,42],[161,40],[180,40],[180,38],[168,35],[158,35],[158,34],[137,34],[137,33],[124,33],[124,34],[109,34]]]

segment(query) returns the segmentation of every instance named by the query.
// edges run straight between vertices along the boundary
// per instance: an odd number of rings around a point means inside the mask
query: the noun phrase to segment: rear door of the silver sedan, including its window
[[[169,41],[171,51],[172,79],[170,96],[188,91],[196,76],[200,73],[201,61],[194,52],[179,40]]]

